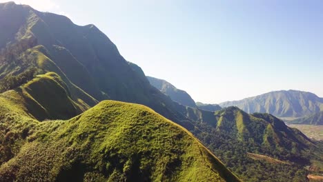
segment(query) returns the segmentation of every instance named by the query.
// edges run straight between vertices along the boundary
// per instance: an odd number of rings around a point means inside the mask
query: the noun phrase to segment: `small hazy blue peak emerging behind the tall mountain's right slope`
[[[173,101],[188,107],[196,108],[195,101],[184,90],[179,90],[171,83],[162,79],[156,79],[148,76],[147,79],[151,85],[168,95]]]

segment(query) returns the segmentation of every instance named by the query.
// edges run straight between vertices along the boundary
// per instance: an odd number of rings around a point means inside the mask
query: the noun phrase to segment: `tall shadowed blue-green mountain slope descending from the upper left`
[[[8,48],[8,45],[22,48],[26,45],[32,45],[28,48],[41,46],[40,52],[46,56],[46,60],[50,59],[51,65],[55,65],[55,68],[42,67],[43,73],[56,72],[62,79],[66,77],[97,101],[112,99],[141,103],[172,121],[180,123],[192,120],[187,117],[185,106],[171,101],[150,85],[141,69],[121,57],[117,47],[95,26],[77,26],[67,17],[39,12],[30,6],[14,3],[0,3],[0,15],[0,27],[10,32],[2,34],[0,48]],[[28,54],[25,55],[23,58],[29,64],[31,61]],[[10,65],[2,66],[0,63],[3,75],[7,75],[13,68],[21,68],[23,71],[25,66],[21,66],[20,54],[18,57],[18,61],[11,61]],[[37,64],[32,66],[39,68]],[[16,75],[21,71],[10,74]],[[82,100],[92,105],[86,99]],[[196,113],[194,118],[203,118],[199,110],[192,113]]]

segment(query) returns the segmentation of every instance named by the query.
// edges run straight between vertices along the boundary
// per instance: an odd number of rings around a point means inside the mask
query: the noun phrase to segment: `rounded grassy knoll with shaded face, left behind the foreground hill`
[[[4,108],[1,113],[17,111],[39,121],[44,119],[70,119],[90,108],[81,99],[73,100],[70,89],[55,72],[37,75],[26,84],[0,94]],[[7,110],[10,105],[19,105],[19,110]]]

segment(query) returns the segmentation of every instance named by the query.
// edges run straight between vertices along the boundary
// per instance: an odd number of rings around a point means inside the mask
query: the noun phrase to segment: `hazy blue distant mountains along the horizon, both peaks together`
[[[168,95],[173,101],[192,108],[214,112],[222,108],[237,106],[250,114],[254,112],[273,114],[286,119],[289,123],[322,124],[320,121],[322,112],[320,111],[323,110],[323,98],[317,97],[311,92],[280,90],[240,101],[227,101],[218,105],[195,103],[186,91],[179,90],[168,81],[154,77],[147,77],[147,79],[151,85]],[[295,120],[295,118],[300,119]]]

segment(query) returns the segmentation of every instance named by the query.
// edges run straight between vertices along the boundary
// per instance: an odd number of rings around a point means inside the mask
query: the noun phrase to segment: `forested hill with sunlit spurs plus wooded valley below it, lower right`
[[[238,108],[226,108],[216,116],[215,128],[198,123],[199,130],[193,133],[243,181],[307,181],[305,166],[313,165],[311,160],[322,161],[322,146],[286,128],[283,121],[271,115],[249,115]],[[251,159],[248,152],[284,163]]]

